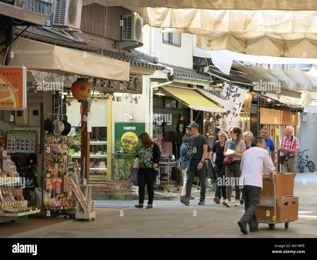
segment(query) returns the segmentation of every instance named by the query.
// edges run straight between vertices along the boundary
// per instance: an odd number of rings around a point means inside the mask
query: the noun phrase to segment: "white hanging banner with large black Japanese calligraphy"
[[[247,92],[248,90],[224,83],[220,94],[229,99],[226,107],[227,113],[211,113],[211,116],[214,117],[213,126],[229,132],[230,127],[236,125],[239,121],[239,114]]]

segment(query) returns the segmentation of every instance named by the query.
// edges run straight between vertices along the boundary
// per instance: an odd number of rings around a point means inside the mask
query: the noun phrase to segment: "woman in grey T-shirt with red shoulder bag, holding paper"
[[[228,149],[235,150],[230,155],[225,155],[225,156],[230,156],[231,163],[225,165],[225,175],[226,179],[225,180],[230,180],[226,181],[226,197],[227,199],[222,203],[223,205],[227,207],[231,207],[230,201],[231,201],[231,194],[232,194],[232,186],[235,186],[235,191],[236,191],[236,203],[235,206],[240,206],[240,195],[241,195],[241,190],[239,189],[239,181],[238,179],[241,177],[241,170],[240,170],[240,163],[241,163],[241,158],[243,153],[246,150],[246,146],[243,140],[240,139],[241,135],[241,128],[237,125],[233,126],[230,128],[230,139],[226,141],[224,145],[224,155],[225,152]],[[228,185],[227,185],[228,184]]]

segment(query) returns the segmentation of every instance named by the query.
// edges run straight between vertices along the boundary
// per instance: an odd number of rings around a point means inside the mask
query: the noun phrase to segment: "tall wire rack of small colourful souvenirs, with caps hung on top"
[[[62,117],[67,120],[67,116],[63,114],[46,114],[44,121],[48,118],[54,121],[55,118]],[[51,216],[72,217],[66,210],[75,208],[74,199],[68,197],[71,194],[67,175],[70,161],[68,147],[68,136],[44,133],[42,212],[47,216],[49,210],[50,220]]]

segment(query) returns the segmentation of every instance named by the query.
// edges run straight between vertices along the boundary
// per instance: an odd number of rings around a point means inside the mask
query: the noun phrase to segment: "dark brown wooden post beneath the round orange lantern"
[[[87,132],[87,117],[88,113],[90,112],[90,109],[88,109],[89,102],[86,100],[84,102],[81,102],[82,104],[82,115],[81,115],[81,157],[80,157],[80,163],[81,163],[81,172],[83,172],[83,163],[85,158],[85,165],[84,165],[84,171],[85,171],[85,179],[87,180],[86,184],[89,184],[89,162],[90,162],[90,132]],[[86,112],[87,110],[87,112]],[[85,113],[86,112],[86,113]],[[86,116],[85,121],[83,120],[83,117]]]

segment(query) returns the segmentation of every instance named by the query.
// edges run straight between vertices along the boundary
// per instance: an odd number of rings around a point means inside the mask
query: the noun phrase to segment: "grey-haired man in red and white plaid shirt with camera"
[[[285,127],[284,135],[281,147],[277,147],[277,150],[281,151],[281,156],[289,155],[287,161],[281,163],[281,172],[293,172],[294,181],[296,176],[296,164],[297,164],[297,151],[299,150],[299,141],[293,136],[294,129],[291,126]],[[292,140],[293,137],[293,140]]]

